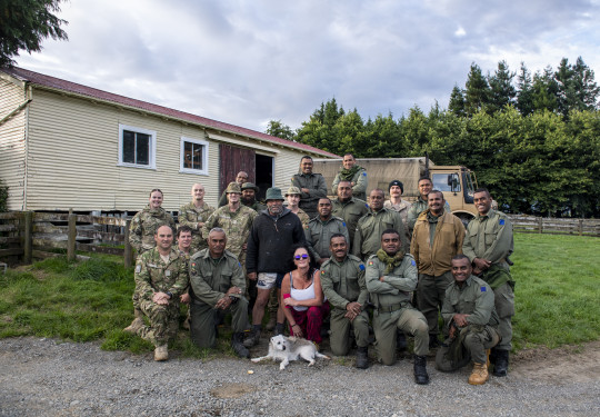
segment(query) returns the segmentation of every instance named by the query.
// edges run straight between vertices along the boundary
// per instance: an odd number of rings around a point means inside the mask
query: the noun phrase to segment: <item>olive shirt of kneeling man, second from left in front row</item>
[[[209,249],[203,249],[190,259],[190,295],[196,300],[214,307],[231,287],[238,287],[244,294],[246,278],[238,258],[229,250],[216,260],[211,258]],[[231,296],[241,297],[239,294]]]

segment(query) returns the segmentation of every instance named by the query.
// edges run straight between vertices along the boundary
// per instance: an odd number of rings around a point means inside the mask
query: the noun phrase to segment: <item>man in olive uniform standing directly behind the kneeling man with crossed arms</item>
[[[394,229],[400,235],[402,254],[409,250],[402,218],[398,212],[383,207],[383,197],[384,192],[380,188],[371,191],[371,210],[357,225],[352,255],[361,259],[368,259],[381,248],[381,234],[387,229]]]

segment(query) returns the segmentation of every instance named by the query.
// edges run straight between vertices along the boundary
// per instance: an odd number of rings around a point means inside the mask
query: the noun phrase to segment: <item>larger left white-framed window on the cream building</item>
[[[119,125],[119,165],[156,169],[157,132]]]

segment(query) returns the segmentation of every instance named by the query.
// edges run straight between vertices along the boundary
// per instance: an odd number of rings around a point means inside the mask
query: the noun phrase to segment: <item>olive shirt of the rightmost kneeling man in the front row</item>
[[[446,289],[441,315],[447,328],[456,314],[469,315],[469,325],[498,327],[498,314],[494,308],[494,296],[491,287],[482,279],[471,275],[462,288],[457,282]]]

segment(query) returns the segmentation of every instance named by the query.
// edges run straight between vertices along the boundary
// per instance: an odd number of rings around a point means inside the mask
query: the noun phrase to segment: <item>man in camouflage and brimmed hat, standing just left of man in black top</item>
[[[243,265],[246,261],[246,242],[258,214],[240,202],[241,189],[237,182],[230,182],[226,192],[229,203],[219,207],[210,215],[202,227],[202,236],[207,239],[209,231],[213,228],[223,229],[228,236],[227,250],[233,254]]]

